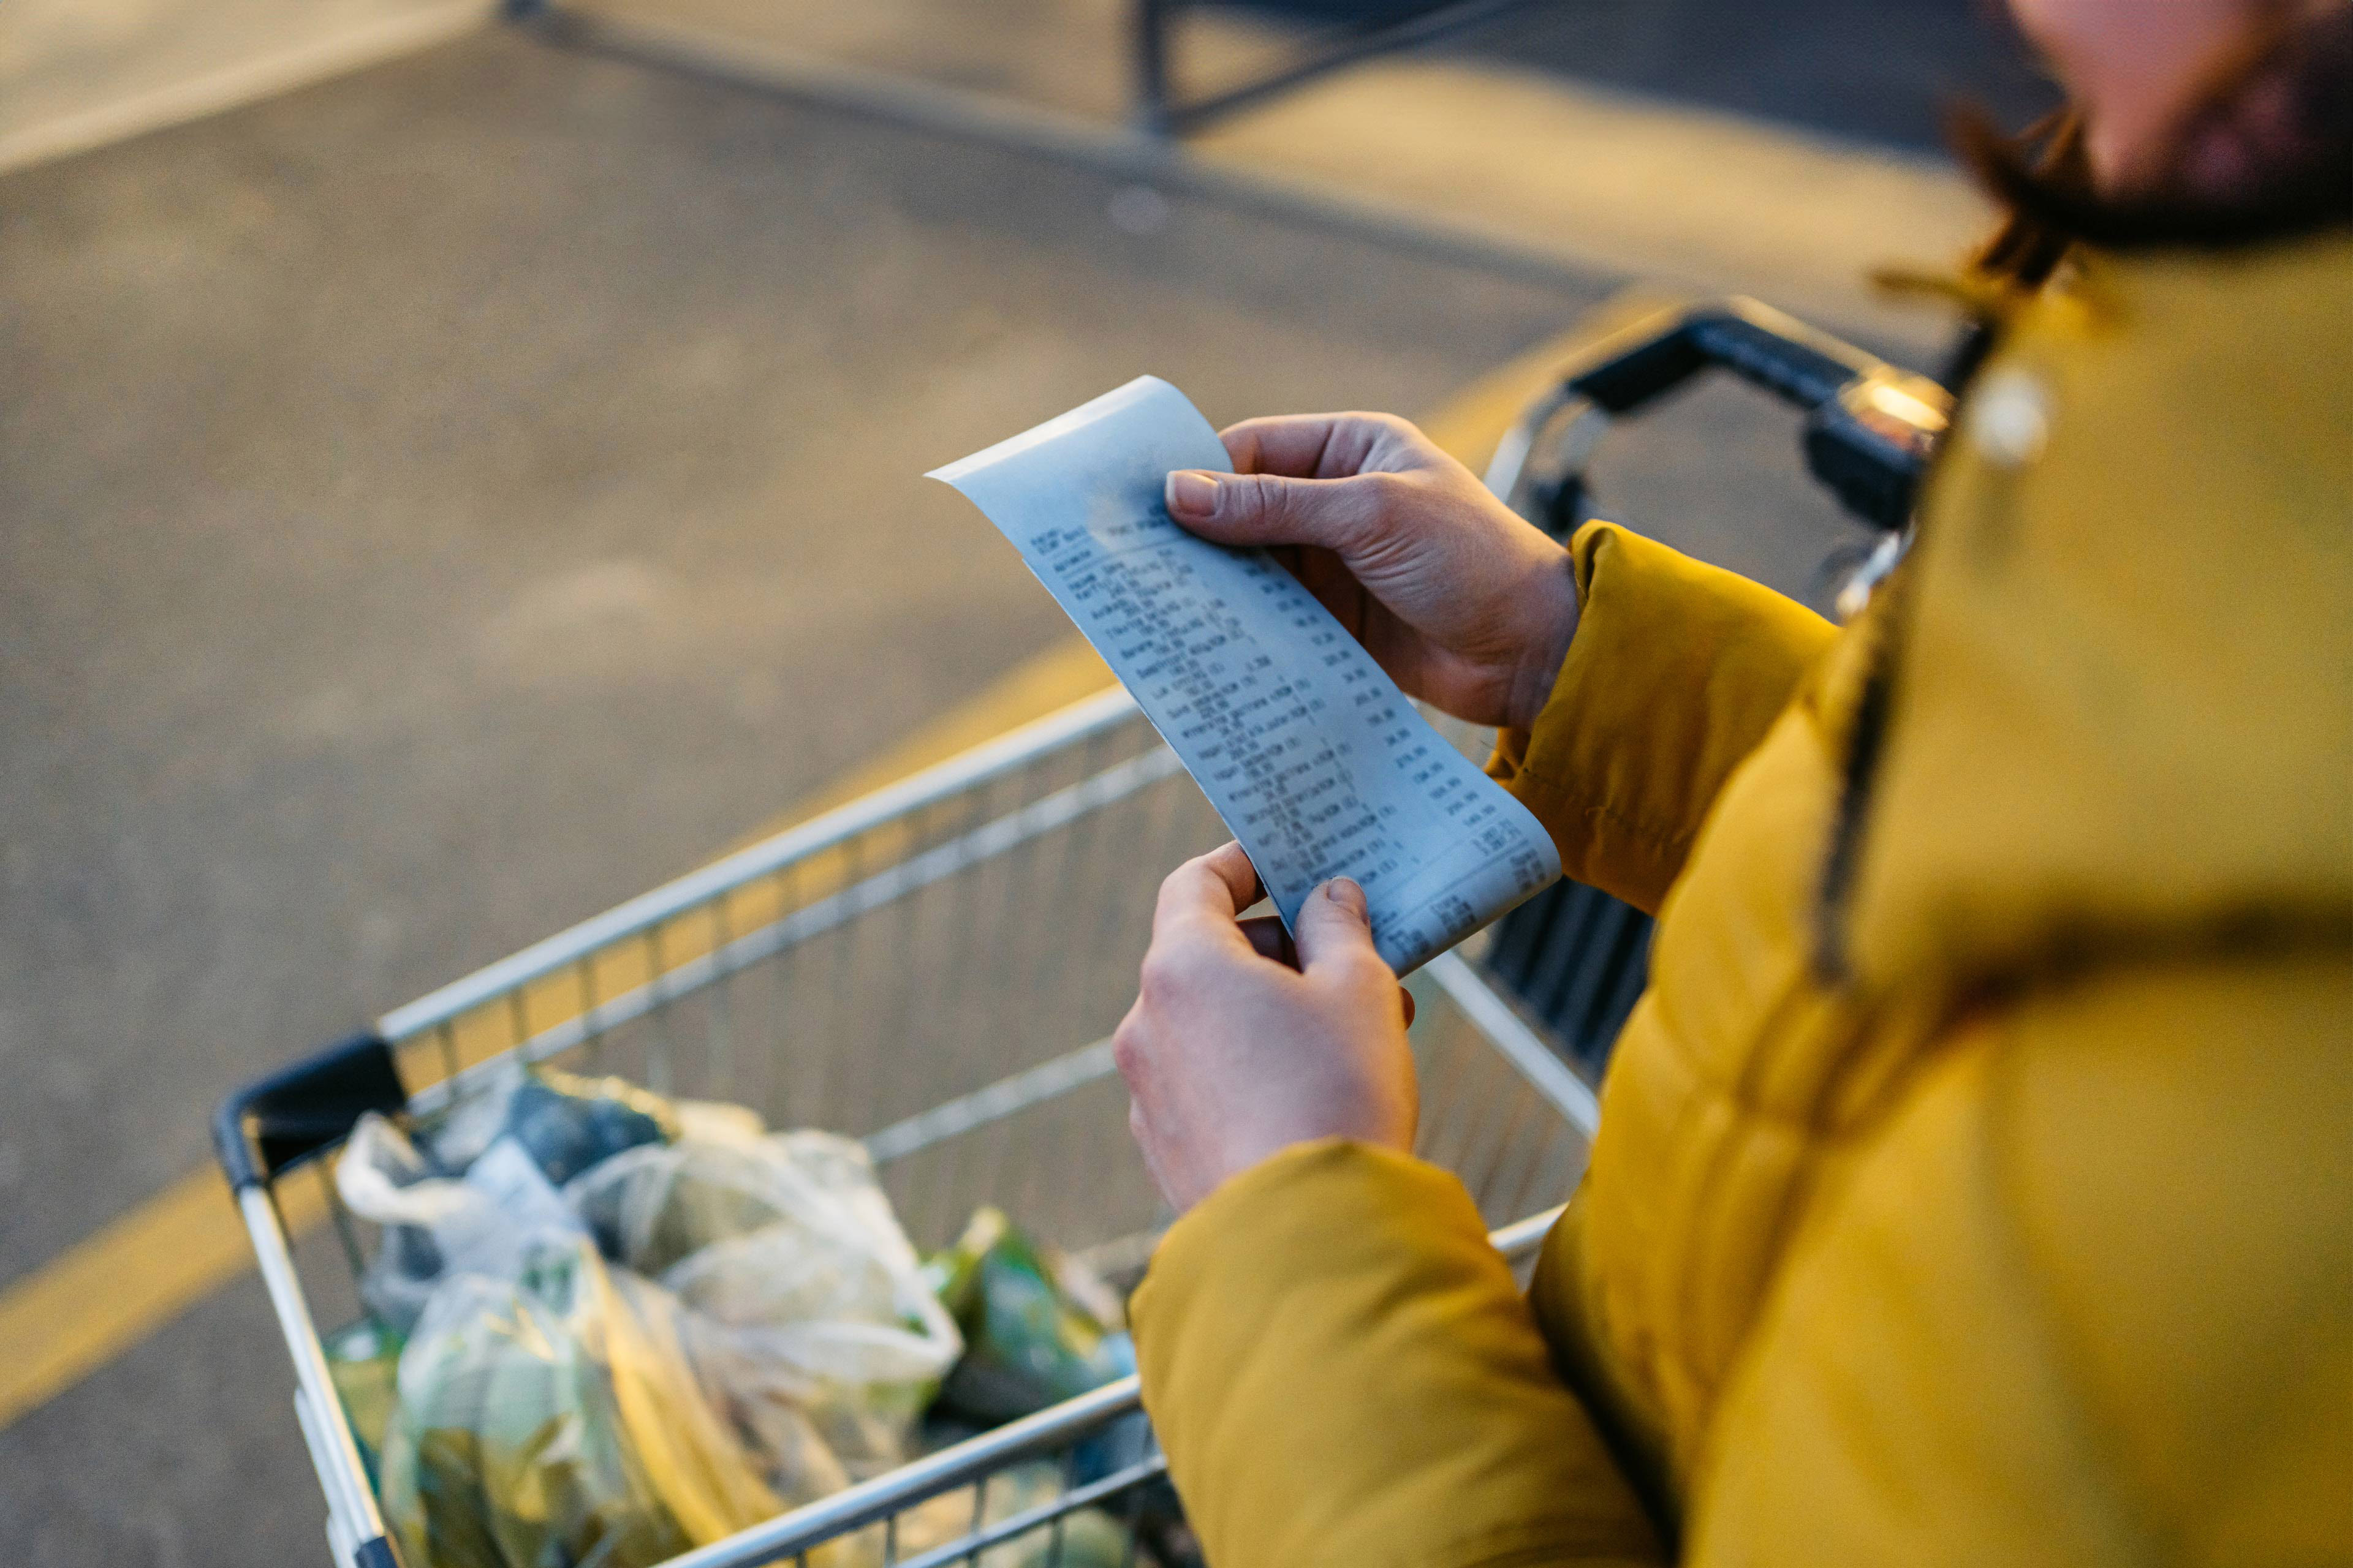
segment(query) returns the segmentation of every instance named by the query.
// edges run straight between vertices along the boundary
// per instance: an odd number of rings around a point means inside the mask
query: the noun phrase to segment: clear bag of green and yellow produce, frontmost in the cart
[[[640,1568],[781,1507],[699,1396],[675,1302],[584,1237],[433,1291],[381,1495],[412,1568]]]

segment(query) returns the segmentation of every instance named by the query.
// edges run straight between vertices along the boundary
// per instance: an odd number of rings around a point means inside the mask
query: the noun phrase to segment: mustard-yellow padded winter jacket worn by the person
[[[2353,1561],[2353,242],[2019,301],[1847,632],[1607,524],[1497,773],[1659,912],[1522,1298],[1329,1143],[1136,1295],[1212,1568]]]

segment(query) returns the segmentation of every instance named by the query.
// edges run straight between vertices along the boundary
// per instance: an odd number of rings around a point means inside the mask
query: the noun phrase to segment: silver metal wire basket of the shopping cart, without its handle
[[[336,1561],[398,1561],[318,1333],[362,1314],[358,1276],[379,1241],[329,1175],[362,1112],[447,1110],[515,1058],[616,1072],[751,1105],[769,1126],[861,1135],[922,1248],[986,1201],[1129,1281],[1167,1215],[1127,1140],[1108,1034],[1160,875],[1224,837],[1134,703],[1108,691],[233,1095],[219,1154],[294,1359]],[[1525,1255],[1584,1168],[1593,1095],[1461,954],[1409,985],[1421,1154],[1457,1171],[1499,1246]],[[1101,1561],[1106,1530],[1120,1561],[1191,1561],[1132,1378],[673,1561],[1056,1568]]]

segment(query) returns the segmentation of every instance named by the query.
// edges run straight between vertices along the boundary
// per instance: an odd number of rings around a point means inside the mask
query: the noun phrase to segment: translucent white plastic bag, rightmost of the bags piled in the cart
[[[828,1490],[812,1439],[849,1479],[906,1458],[962,1340],[861,1145],[682,1138],[607,1159],[565,1199],[609,1258],[678,1295],[704,1392],[781,1493]]]

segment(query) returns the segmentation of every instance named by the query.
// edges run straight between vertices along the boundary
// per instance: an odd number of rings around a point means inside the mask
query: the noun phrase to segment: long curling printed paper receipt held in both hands
[[[1558,879],[1537,818],[1289,571],[1169,522],[1172,468],[1231,463],[1184,393],[1141,376],[932,477],[988,515],[1127,684],[1285,924],[1353,877],[1405,973]]]

